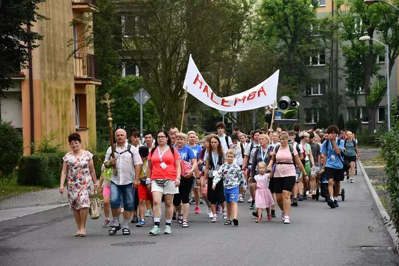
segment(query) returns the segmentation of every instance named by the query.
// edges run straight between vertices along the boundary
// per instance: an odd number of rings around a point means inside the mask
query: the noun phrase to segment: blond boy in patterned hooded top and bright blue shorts
[[[226,163],[222,164],[217,171],[217,175],[212,181],[212,190],[215,190],[216,184],[223,179],[224,197],[227,203],[227,221],[224,225],[231,225],[231,216],[234,226],[238,226],[238,187],[244,183],[244,176],[241,168],[234,163],[235,151],[228,149],[226,152]]]

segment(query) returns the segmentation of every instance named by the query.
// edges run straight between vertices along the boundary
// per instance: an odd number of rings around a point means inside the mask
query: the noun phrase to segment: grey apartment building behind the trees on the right
[[[333,0],[319,0],[320,7],[318,8],[318,15],[325,16],[331,15],[335,12],[334,1]],[[348,6],[347,8],[350,8]],[[357,21],[361,23],[361,21]],[[357,25],[354,25],[356,27]],[[367,35],[367,34],[365,34]],[[375,32],[374,38],[379,38],[379,32]],[[375,43],[375,45],[379,45]],[[326,110],[320,107],[321,104],[316,104],[318,100],[323,98],[326,91],[331,89],[334,93],[342,96],[344,99],[343,104],[340,105],[338,113],[342,114],[345,124],[348,120],[353,120],[356,118],[355,103],[352,99],[345,96],[347,91],[346,77],[344,73],[344,57],[342,54],[342,49],[338,43],[334,43],[334,49],[326,49],[321,51],[314,51],[309,57],[309,68],[312,73],[313,81],[312,83],[305,87],[303,91],[300,92],[298,101],[300,102],[300,121],[305,124],[306,128],[313,128],[321,119]],[[371,84],[376,82],[385,81],[386,79],[386,66],[385,66],[385,53],[382,49],[383,54],[377,56],[377,63],[380,66],[380,70],[377,75],[371,79]],[[327,66],[327,60],[334,60],[332,64],[333,67],[329,68]],[[391,100],[395,99],[398,95],[398,59],[395,62],[395,66],[392,70],[392,75],[390,77],[390,94]],[[338,104],[338,103],[337,103]],[[316,106],[316,107],[315,107]],[[364,92],[360,91],[359,103],[360,117],[362,118],[363,129],[367,129],[369,123],[369,116],[366,108],[366,97]],[[387,116],[387,96],[384,96],[380,102],[376,114],[376,128],[379,128],[386,120]]]

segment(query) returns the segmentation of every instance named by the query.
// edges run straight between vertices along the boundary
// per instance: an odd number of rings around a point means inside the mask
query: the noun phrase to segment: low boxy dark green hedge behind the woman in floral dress
[[[34,153],[18,162],[18,184],[52,188],[59,184],[64,152]]]

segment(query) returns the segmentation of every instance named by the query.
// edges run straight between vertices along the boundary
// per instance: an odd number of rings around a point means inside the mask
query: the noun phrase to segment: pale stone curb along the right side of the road
[[[366,181],[367,186],[369,187],[371,196],[373,197],[374,203],[376,204],[377,210],[381,215],[381,218],[383,219],[384,222],[384,226],[388,231],[388,234],[390,235],[393,243],[394,243],[394,248],[395,251],[399,251],[399,238],[396,234],[396,228],[394,227],[394,225],[391,223],[391,217],[388,215],[387,211],[385,210],[383,204],[381,203],[380,198],[377,195],[376,190],[373,187],[373,184],[370,181],[369,176],[366,173],[366,170],[362,164],[361,161],[358,161],[359,167],[361,169],[361,171],[363,172],[363,177]]]

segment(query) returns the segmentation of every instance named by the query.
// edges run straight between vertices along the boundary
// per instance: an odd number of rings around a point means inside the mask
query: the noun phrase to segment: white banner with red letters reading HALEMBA
[[[279,71],[277,70],[268,79],[249,90],[227,97],[219,97],[214,94],[205,82],[190,55],[183,86],[184,89],[187,88],[188,93],[217,110],[226,112],[252,110],[273,104],[274,101],[277,101]]]

